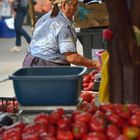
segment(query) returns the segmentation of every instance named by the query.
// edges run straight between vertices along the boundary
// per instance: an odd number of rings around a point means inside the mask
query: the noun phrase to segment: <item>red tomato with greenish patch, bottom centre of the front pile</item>
[[[87,134],[87,131],[88,131],[88,128],[87,128],[86,123],[76,121],[73,124],[72,132],[73,132],[74,138],[76,139],[81,139],[85,134]]]

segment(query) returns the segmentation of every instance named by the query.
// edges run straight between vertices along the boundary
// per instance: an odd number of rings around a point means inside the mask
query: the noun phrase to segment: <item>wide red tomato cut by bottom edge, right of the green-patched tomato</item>
[[[106,136],[103,133],[88,133],[82,140],[107,140]]]

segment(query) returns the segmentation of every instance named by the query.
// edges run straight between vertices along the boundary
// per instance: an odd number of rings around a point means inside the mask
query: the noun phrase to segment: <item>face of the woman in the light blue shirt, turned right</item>
[[[66,15],[66,17],[72,20],[72,17],[76,13],[78,9],[78,0],[71,0],[70,2],[62,4],[62,11]]]

